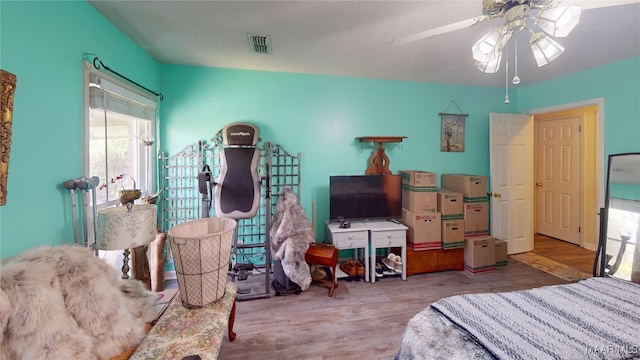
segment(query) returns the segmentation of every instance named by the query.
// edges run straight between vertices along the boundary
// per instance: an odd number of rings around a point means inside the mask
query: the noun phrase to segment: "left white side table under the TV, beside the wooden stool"
[[[339,223],[327,223],[329,243],[338,250],[353,249],[355,257],[360,258],[359,250],[363,249],[364,281],[369,281],[369,228],[363,223],[351,223],[349,228],[341,228]]]

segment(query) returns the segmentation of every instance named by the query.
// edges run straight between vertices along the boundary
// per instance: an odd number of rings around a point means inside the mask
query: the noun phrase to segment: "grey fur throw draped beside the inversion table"
[[[304,260],[309,244],[315,242],[311,222],[304,213],[298,197],[284,187],[278,197],[271,224],[271,254],[280,260],[285,275],[305,291],[311,285],[311,270]]]

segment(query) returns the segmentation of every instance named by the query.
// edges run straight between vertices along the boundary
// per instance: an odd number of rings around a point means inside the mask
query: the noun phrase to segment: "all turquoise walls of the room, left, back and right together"
[[[302,153],[301,201],[308,214],[315,204],[317,223],[327,216],[329,176],[367,167],[371,149],[358,136],[407,136],[388,151],[393,171],[488,175],[489,112],[603,97],[607,154],[640,150],[640,58],[512,90],[505,105],[502,88],[161,65],[84,1],[1,1],[0,44],[0,67],[18,77],[8,202],[0,207],[2,258],[73,242],[60,184],[85,175],[84,53],[165,93],[161,145],[169,154],[237,121]],[[439,151],[438,113],[452,100],[470,115],[464,153]]]

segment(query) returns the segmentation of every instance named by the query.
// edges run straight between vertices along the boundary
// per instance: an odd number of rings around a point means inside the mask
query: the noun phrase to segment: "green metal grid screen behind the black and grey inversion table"
[[[279,194],[283,187],[300,194],[301,154],[293,156],[280,145],[265,142],[260,149],[260,206],[250,219],[238,220],[234,235],[229,275],[232,281],[264,276],[264,289],[239,289],[238,300],[250,300],[271,296],[271,217],[275,211],[272,194]],[[209,215],[210,205],[200,199],[198,174],[208,166],[211,179],[220,174],[222,135],[218,132],[211,144],[199,141],[185,147],[173,156],[160,154],[162,188],[161,227],[163,231],[182,222]],[[201,177],[201,176],[200,176]],[[213,201],[213,200],[212,200]],[[277,196],[276,196],[277,201]],[[246,277],[245,277],[246,276]]]

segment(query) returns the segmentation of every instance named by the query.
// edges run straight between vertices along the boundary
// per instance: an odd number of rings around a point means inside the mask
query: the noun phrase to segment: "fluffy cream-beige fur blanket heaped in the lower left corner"
[[[0,272],[0,359],[108,359],[134,347],[155,295],[84,247],[27,251]]]

